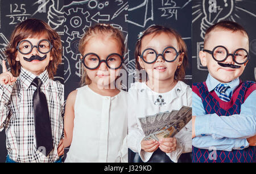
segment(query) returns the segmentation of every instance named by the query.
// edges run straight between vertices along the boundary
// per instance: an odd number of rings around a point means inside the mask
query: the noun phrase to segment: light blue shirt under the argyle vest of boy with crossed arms
[[[239,85],[239,78],[227,83],[229,92]],[[212,91],[220,84],[210,74],[205,82],[208,90]],[[215,91],[219,96],[219,93]],[[232,116],[218,116],[214,114],[205,114],[202,100],[199,96],[192,93],[192,115],[196,116],[195,133],[196,137],[192,139],[192,145],[197,148],[215,147],[216,150],[232,151],[239,150],[249,146],[246,138],[256,134],[256,91],[253,91],[241,105],[240,114]]]

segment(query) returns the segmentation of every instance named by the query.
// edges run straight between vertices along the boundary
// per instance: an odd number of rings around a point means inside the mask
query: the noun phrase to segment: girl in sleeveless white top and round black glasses
[[[79,50],[85,86],[68,95],[58,151],[70,146],[65,162],[127,162],[127,93],[115,86],[125,52],[122,33],[97,24],[85,32]]]

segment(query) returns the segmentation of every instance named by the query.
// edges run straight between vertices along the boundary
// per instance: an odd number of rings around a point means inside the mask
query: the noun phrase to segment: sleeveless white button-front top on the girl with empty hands
[[[73,139],[65,162],[127,162],[127,92],[77,88]]]

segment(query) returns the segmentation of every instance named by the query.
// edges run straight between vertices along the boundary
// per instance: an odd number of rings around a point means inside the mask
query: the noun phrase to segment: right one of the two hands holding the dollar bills
[[[176,138],[163,138],[163,139],[160,139],[159,143],[160,143],[159,148],[163,152],[171,153],[172,151],[176,150],[176,146],[177,146]]]

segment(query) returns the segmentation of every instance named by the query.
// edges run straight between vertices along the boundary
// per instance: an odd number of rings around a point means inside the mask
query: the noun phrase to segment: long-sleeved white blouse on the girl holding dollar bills
[[[158,100],[157,99],[163,99]],[[160,102],[159,102],[160,101]],[[141,150],[141,141],[144,133],[139,123],[139,117],[146,117],[159,112],[173,109],[179,110],[183,105],[191,107],[192,90],[184,82],[177,82],[176,86],[168,92],[158,93],[152,91],[145,82],[135,82],[129,89],[129,117],[128,117],[128,147],[138,152],[143,162],[147,162],[154,152],[145,152]],[[175,135],[177,139],[176,150],[166,153],[173,162],[177,162],[179,156],[185,152],[192,151],[192,122],[181,129]]]

